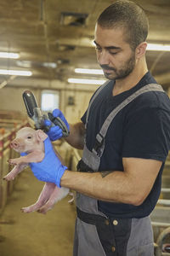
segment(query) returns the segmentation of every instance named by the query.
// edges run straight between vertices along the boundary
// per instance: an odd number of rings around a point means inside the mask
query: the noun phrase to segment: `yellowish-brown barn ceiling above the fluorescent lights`
[[[17,60],[0,59],[0,69],[30,70],[35,81],[66,82],[80,77],[76,67],[99,68],[92,44],[95,20],[113,2],[0,0],[0,51],[20,53]],[[148,42],[170,44],[170,1],[135,2],[150,20]],[[170,86],[169,60],[170,52],[147,51],[148,67],[164,86]],[[10,78],[0,75],[0,83],[5,80]],[[20,78],[15,81],[20,84]]]

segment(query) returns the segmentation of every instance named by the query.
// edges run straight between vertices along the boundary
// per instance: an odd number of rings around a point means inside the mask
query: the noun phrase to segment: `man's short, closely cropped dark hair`
[[[131,49],[144,42],[148,35],[149,22],[142,9],[136,3],[127,0],[117,0],[107,7],[97,20],[104,28],[122,27],[125,29],[125,41]]]

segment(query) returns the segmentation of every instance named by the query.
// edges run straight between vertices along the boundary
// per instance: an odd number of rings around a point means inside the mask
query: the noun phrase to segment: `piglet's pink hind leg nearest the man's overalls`
[[[41,213],[46,213],[48,212],[48,210],[50,210],[51,208],[54,207],[54,204],[58,201],[60,201],[61,199],[63,199],[66,195],[68,195],[69,193],[69,189],[66,188],[61,188],[59,189],[56,185],[55,185],[55,189],[53,191],[53,193],[51,194],[51,196],[49,197],[47,203],[41,207],[38,212]]]

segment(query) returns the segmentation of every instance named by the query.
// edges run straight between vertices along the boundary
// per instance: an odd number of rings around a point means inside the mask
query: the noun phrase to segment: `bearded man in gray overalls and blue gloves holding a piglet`
[[[170,102],[148,72],[147,34],[136,3],[116,1],[99,15],[94,43],[108,82],[94,93],[82,122],[68,125],[59,110],[53,113],[70,127],[66,141],[83,149],[79,172],[59,160],[44,162],[41,177],[38,164],[32,167],[39,179],[50,176],[77,191],[74,256],[154,255],[148,216],[170,148]],[[62,131],[52,127],[48,136],[59,139]]]

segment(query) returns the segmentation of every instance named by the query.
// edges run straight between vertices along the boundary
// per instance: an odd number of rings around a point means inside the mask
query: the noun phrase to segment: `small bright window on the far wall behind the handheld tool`
[[[53,111],[59,108],[59,91],[56,90],[42,90],[42,111]]]

